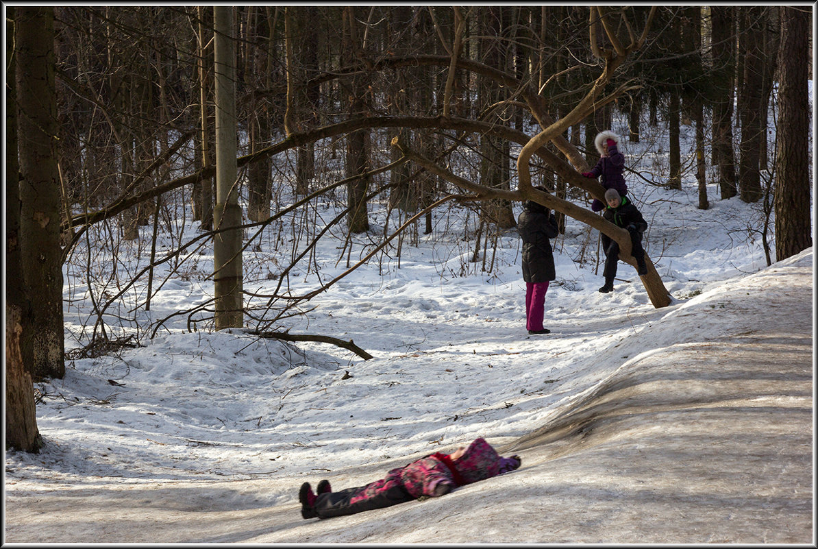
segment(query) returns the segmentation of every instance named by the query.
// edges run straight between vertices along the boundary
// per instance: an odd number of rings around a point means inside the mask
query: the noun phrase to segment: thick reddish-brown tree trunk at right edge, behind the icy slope
[[[779,124],[775,154],[775,258],[812,245],[810,223],[810,108],[808,7],[780,7]]]

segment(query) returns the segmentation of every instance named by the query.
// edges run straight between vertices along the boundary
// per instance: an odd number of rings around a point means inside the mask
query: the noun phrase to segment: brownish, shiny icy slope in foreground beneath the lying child
[[[681,342],[631,358],[506,443],[502,453],[524,458],[510,475],[323,521],[302,520],[292,502],[230,501],[292,489],[286,480],[88,479],[7,494],[6,541],[814,543],[812,256],[799,257],[672,308],[649,330]],[[717,314],[730,314],[725,330],[702,330]]]

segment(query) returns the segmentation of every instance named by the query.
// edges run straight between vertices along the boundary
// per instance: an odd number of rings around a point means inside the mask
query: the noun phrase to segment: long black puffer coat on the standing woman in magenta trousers
[[[517,220],[517,231],[523,238],[523,280],[533,283],[554,280],[554,253],[548,240],[559,232],[554,214],[527,200]]]

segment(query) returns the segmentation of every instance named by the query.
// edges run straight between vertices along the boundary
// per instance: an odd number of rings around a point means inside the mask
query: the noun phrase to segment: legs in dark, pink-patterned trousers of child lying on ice
[[[409,495],[400,481],[384,479],[340,492],[320,493],[313,508],[318,518],[328,519],[330,516],[354,515],[362,511],[409,502],[412,499],[415,498]]]

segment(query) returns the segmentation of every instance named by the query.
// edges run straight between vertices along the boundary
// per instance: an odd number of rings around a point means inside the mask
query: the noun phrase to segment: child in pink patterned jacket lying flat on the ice
[[[315,494],[305,482],[299,490],[301,516],[327,519],[397,505],[422,496],[443,496],[458,486],[515,470],[520,462],[519,456],[500,457],[484,439],[475,439],[468,448],[461,446],[448,455],[429,454],[390,470],[385,479],[366,486],[332,492],[329,481],[321,480]]]

